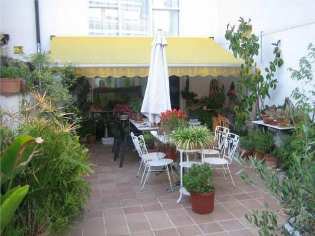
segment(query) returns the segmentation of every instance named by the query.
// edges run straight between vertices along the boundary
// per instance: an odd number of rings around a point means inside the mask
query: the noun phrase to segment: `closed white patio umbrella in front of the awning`
[[[167,41],[163,31],[158,30],[152,42],[148,83],[141,107],[141,113],[147,116],[151,123],[160,122],[160,113],[172,109],[169,97],[166,46]]]

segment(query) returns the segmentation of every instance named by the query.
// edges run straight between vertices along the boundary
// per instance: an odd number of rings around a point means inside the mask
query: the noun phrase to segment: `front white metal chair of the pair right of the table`
[[[225,180],[226,180],[226,174],[227,174],[226,170],[227,170],[231,177],[234,188],[235,188],[235,184],[234,184],[234,180],[229,169],[229,165],[232,163],[233,156],[234,156],[236,147],[238,145],[238,141],[239,141],[238,135],[233,134],[233,133],[228,133],[225,139],[225,145],[224,145],[222,156],[220,156],[219,158],[206,158],[205,156],[207,156],[207,154],[203,153],[203,158],[202,158],[203,163],[208,163],[212,166],[221,166],[221,168],[214,168],[214,169],[218,169],[218,170],[222,169]]]

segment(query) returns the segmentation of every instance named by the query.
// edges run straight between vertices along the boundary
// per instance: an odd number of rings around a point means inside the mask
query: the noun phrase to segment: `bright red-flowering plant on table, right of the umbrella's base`
[[[188,124],[186,120],[187,115],[185,115],[181,110],[166,110],[165,112],[162,112],[160,116],[161,129],[166,134],[171,133],[172,130],[176,129],[177,127],[186,126]]]

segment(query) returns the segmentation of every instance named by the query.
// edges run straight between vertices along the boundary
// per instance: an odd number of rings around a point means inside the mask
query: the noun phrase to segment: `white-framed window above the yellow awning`
[[[166,36],[179,36],[179,1],[89,1],[89,34],[153,36],[162,29]]]

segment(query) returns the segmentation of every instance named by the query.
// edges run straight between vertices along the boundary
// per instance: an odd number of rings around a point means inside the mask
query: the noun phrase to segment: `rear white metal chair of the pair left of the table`
[[[137,173],[137,177],[139,176],[139,173],[140,173],[140,170],[141,170],[141,167],[144,165],[145,168],[144,168],[144,171],[142,173],[142,177],[141,177],[141,181],[140,181],[140,184],[142,184],[142,181],[143,181],[143,178],[144,178],[144,175],[145,175],[145,171],[146,171],[146,168],[147,168],[147,162],[148,161],[154,161],[154,160],[159,160],[159,159],[162,159],[165,157],[165,153],[163,152],[148,152],[147,150],[147,146],[144,142],[144,138],[143,138],[143,135],[140,135],[140,136],[136,136],[133,132],[131,132],[131,137],[132,137],[132,140],[134,142],[134,145],[136,147],[136,150],[141,158],[141,161],[140,161],[140,166],[139,166],[139,170],[138,170],[138,173]],[[139,141],[139,139],[142,140],[142,142]]]

